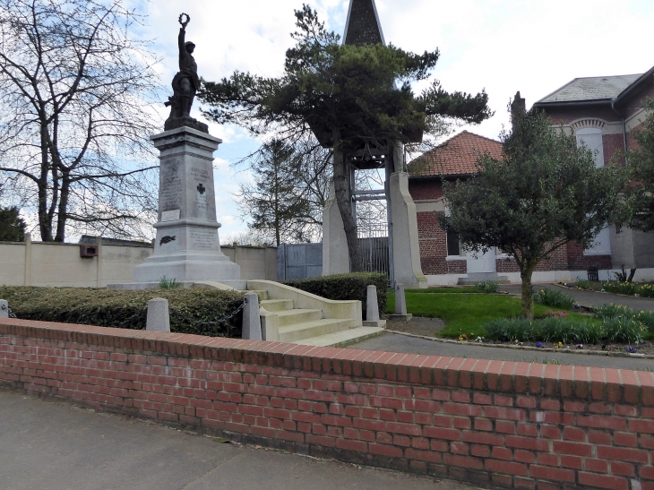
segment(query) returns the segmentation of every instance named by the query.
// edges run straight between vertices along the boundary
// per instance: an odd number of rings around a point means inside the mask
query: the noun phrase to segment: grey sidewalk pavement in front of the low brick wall
[[[0,389],[3,490],[472,490],[177,432]]]

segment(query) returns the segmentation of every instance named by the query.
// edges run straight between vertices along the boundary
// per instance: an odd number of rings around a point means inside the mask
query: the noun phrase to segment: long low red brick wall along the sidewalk
[[[654,490],[654,374],[0,319],[0,383],[508,488]]]

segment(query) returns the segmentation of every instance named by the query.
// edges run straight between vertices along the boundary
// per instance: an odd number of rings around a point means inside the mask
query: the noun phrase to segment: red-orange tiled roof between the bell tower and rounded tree
[[[409,176],[465,176],[477,173],[478,156],[502,158],[502,143],[463,131],[409,163]]]

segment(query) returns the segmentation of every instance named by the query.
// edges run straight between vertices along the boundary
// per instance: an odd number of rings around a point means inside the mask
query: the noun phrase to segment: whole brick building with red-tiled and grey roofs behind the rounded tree
[[[624,165],[630,133],[645,117],[643,102],[654,96],[654,68],[648,73],[575,79],[538,100],[553,124],[574,130],[579,144],[594,151],[598,166]],[[476,172],[480,153],[500,158],[500,142],[464,131],[409,163],[409,192],[416,202],[420,259],[430,284],[456,284],[470,275],[501,274],[520,282],[515,262],[491,250],[475,256],[460,249],[458,236],[438,226],[435,213],[445,211],[443,180],[455,181]],[[599,279],[613,279],[620,268],[637,268],[635,279],[654,279],[654,234],[610,227],[587,250],[578,244],[559,249],[541,262],[534,281],[574,280],[598,269]]]

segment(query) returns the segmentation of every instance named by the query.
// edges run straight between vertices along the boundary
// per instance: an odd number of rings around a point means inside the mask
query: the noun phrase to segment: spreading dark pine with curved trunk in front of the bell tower
[[[415,55],[381,44],[345,45],[307,5],[296,17],[297,44],[287,51],[284,73],[279,78],[234,73],[221,82],[203,82],[200,98],[210,106],[204,114],[253,133],[273,131],[280,139],[314,133],[331,148],[351,268],[363,271],[348,195],[349,156],[366,143],[392,152],[452,121],[480,123],[491,115],[487,96],[449,93],[438,82],[416,96],[411,83],[430,77],[438,50]]]

